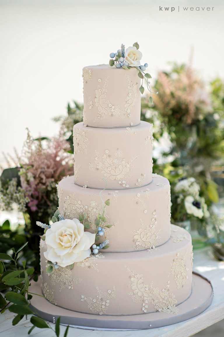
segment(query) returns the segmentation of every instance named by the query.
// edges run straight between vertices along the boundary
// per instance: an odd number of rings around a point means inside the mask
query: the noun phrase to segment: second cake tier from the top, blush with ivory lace
[[[75,183],[91,188],[126,189],[152,181],[152,124],[136,127],[73,128]]]

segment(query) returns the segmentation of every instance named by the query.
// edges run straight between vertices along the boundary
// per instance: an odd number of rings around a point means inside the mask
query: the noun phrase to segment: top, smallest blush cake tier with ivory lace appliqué
[[[128,127],[140,123],[140,78],[108,64],[83,68],[83,123],[92,127]]]

